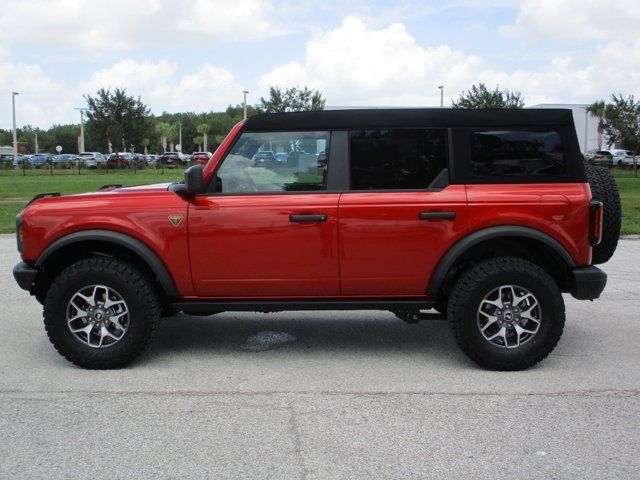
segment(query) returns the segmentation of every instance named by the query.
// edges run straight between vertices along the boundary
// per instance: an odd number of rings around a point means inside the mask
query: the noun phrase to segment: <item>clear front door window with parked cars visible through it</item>
[[[222,193],[325,190],[329,132],[243,133],[217,173]]]

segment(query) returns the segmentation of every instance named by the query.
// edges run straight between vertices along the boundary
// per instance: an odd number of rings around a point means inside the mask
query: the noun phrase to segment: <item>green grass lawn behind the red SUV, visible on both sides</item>
[[[633,170],[613,169],[622,197],[622,234],[640,234],[640,177],[635,178]],[[34,195],[41,192],[61,194],[90,192],[108,183],[139,185],[179,180],[182,170],[83,170],[81,175],[75,170],[22,171],[0,170],[0,233],[15,231],[15,216]]]

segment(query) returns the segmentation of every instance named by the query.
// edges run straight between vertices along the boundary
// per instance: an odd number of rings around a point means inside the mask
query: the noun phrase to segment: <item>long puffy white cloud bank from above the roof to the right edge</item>
[[[640,89],[640,39],[596,47],[587,61],[558,56],[534,68],[506,70],[447,45],[419,45],[402,24],[375,29],[347,18],[307,43],[304,62],[291,61],[262,75],[259,85],[307,85],[328,105],[438,105],[472,84],[519,90],[527,104],[591,102]]]

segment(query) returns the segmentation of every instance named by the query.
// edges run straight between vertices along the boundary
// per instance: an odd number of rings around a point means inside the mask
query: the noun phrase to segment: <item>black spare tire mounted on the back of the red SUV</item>
[[[609,170],[596,165],[585,165],[593,200],[604,204],[602,241],[593,247],[591,263],[604,263],[611,258],[620,238],[620,193]]]

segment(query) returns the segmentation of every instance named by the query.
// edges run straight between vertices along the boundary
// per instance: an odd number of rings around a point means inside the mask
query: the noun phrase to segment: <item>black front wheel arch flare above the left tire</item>
[[[121,250],[115,251],[114,248]],[[168,298],[177,298],[178,291],[169,270],[160,260],[158,255],[147,245],[136,238],[112,230],[83,230],[70,233],[51,243],[38,257],[35,267],[42,268],[47,265],[53,267],[54,272],[49,272],[49,277],[55,273],[56,266],[68,264],[68,257],[80,259],[87,253],[96,254],[124,254],[130,261],[142,267],[158,283],[164,295]],[[60,255],[60,259],[55,254]],[[51,270],[51,269],[49,269]],[[52,280],[52,278],[49,278]]]

